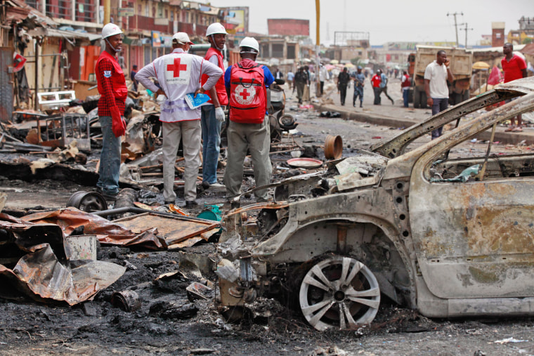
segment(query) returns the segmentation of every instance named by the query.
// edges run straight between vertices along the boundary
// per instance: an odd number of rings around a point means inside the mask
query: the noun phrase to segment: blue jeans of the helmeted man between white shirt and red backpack
[[[217,162],[221,150],[221,122],[215,118],[215,106],[200,107],[202,117],[202,180],[217,183]]]

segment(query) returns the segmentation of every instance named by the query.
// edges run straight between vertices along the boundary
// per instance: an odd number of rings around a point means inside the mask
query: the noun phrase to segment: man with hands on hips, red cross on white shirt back
[[[190,109],[185,102],[188,93],[204,93],[209,91],[219,80],[223,71],[216,65],[202,59],[198,55],[187,53],[193,44],[188,34],[177,32],[172,37],[173,51],[156,58],[145,65],[136,74],[136,79],[155,93],[157,98],[164,95],[159,121],[163,128],[163,198],[165,204],[174,204],[174,164],[180,140],[183,143],[183,157],[185,158],[185,172],[183,178],[185,206],[197,205],[197,176],[200,162],[200,107]],[[200,85],[200,77],[206,74],[208,79]],[[158,88],[149,78],[155,77],[159,82]]]

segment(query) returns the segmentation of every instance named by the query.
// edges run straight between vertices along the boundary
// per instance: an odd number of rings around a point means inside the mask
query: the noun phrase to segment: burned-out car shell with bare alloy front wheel
[[[532,110],[533,78],[496,86],[338,161],[335,174],[278,183],[277,202],[230,211],[221,303],[288,294],[318,330],[372,322],[383,296],[427,317],[533,315],[534,154],[490,150],[499,122]],[[486,154],[454,157],[483,131]],[[245,212],[258,207],[251,227]]]

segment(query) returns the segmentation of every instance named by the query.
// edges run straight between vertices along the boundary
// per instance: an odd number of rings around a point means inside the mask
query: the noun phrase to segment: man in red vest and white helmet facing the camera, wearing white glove
[[[206,36],[211,47],[204,60],[218,66],[224,72],[223,49],[226,43],[226,29],[219,22],[212,23],[206,30]],[[207,76],[202,77],[202,84]],[[221,106],[228,105],[228,96],[224,86],[224,78],[209,91],[209,100],[202,106],[202,185],[211,190],[224,190],[222,184],[217,183],[217,163],[221,146],[221,123],[224,121],[224,111]]]

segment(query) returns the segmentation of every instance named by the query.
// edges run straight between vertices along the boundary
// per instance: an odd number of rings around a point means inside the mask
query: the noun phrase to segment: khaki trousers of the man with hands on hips
[[[202,129],[199,120],[163,122],[163,199],[176,200],[174,192],[174,164],[180,140],[182,140],[185,169],[183,197],[185,200],[197,198],[198,168],[202,164],[199,157]]]

